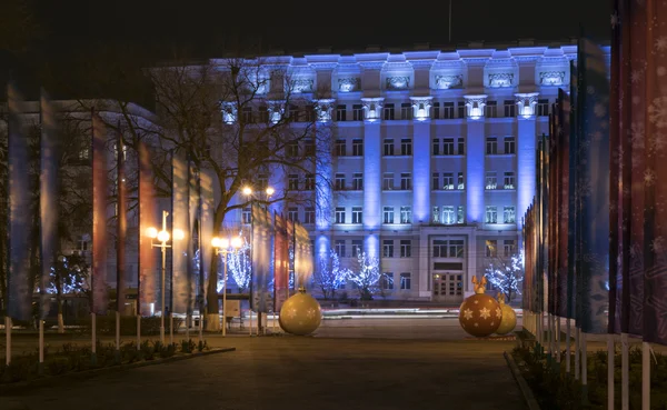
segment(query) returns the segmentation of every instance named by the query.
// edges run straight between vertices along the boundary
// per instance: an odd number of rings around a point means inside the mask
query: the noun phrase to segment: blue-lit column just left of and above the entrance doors
[[[410,97],[412,101],[412,223],[427,223],[430,217],[430,107],[432,97]]]

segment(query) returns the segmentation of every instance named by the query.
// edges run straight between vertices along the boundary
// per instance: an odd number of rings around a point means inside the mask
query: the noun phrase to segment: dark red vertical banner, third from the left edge
[[[92,111],[92,312],[107,314],[107,150],[102,119]]]

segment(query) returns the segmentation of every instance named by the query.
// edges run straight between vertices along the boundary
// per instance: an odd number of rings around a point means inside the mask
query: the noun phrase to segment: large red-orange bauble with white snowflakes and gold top
[[[485,294],[486,278],[477,284],[477,278],[472,277],[475,294],[466,298],[459,310],[459,323],[468,334],[485,338],[498,330],[502,319],[502,309],[496,299]]]

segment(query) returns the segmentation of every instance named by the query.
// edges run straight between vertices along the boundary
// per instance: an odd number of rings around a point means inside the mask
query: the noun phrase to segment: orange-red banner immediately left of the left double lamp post
[[[138,143],[139,150],[139,287],[138,304],[141,316],[151,316],[151,306],[157,302],[158,272],[156,257],[148,237],[149,228],[157,228],[156,194],[153,190],[152,166],[150,152],[143,141]]]

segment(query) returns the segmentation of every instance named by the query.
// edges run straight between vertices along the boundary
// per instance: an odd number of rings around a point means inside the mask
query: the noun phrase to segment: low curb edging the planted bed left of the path
[[[110,366],[110,367],[100,368],[100,369],[77,371],[77,372],[71,372],[71,373],[60,374],[60,376],[50,376],[50,377],[39,378],[39,379],[33,379],[33,380],[28,380],[28,381],[18,381],[14,383],[3,383],[3,384],[0,384],[0,394],[6,394],[8,392],[13,392],[13,391],[18,391],[18,390],[22,390],[22,389],[27,389],[27,388],[32,389],[36,387],[51,386],[51,384],[58,383],[60,381],[88,379],[88,378],[96,377],[99,374],[107,374],[107,373],[113,373],[113,372],[119,372],[119,371],[123,371],[123,370],[143,368],[147,366],[171,363],[175,361],[195,359],[195,358],[200,358],[203,356],[216,354],[216,353],[226,353],[226,352],[230,352],[230,351],[236,351],[236,348],[211,349],[208,351],[190,353],[187,356],[172,356],[170,358],[158,359],[158,360],[145,360],[145,361],[139,361],[139,362],[135,362],[135,363]]]

